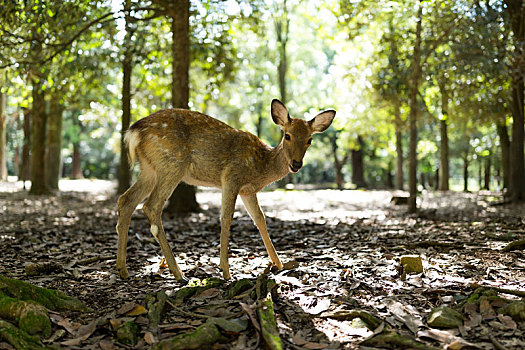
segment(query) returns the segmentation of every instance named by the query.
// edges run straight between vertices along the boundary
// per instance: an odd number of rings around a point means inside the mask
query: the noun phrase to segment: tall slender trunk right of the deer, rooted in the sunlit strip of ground
[[[412,61],[412,79],[410,86],[410,145],[409,145],[409,171],[408,171],[408,212],[417,211],[417,92],[421,75],[421,21],[423,17],[423,5],[419,1],[416,26],[416,42],[414,44],[414,58]]]

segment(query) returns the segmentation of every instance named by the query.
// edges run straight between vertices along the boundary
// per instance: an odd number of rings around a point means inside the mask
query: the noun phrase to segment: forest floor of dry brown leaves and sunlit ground
[[[221,329],[223,343],[213,348],[261,346],[256,297],[250,290],[231,294],[231,281],[168,303],[158,329],[151,331],[146,296],[158,291],[175,296],[184,283],[164,268],[140,210],[130,228],[130,278],[118,276],[113,188],[105,181],[63,181],[62,192],[41,197],[29,196],[20,184],[0,184],[0,275],[61,290],[94,310],[52,313],[55,334],[47,344],[149,348],[190,333],[210,318],[224,318],[244,326]],[[509,242],[525,238],[525,208],[493,206],[500,198],[489,192],[426,192],[419,213],[409,215],[406,206],[390,202],[399,194],[327,189],[260,193],[274,246],[287,267],[282,271],[269,271],[262,240],[239,200],[229,246],[233,280],[255,283],[265,272],[275,280],[274,312],[287,349],[525,348],[525,320],[499,311],[525,293],[525,253],[503,251]],[[187,278],[220,278],[220,193],[199,191],[198,201],[201,213],[165,215],[164,227]],[[424,273],[405,273],[399,264],[404,255],[420,256]],[[26,274],[27,263],[43,262],[59,268]],[[487,287],[483,293],[480,286]],[[468,301],[473,301],[470,306]],[[430,326],[429,313],[440,305],[459,311],[460,323]],[[372,315],[379,326],[371,327],[374,322],[367,322],[366,315],[355,317],[356,310]],[[133,346],[122,344],[115,332],[130,320],[138,325]],[[386,330],[415,343],[362,343]],[[0,343],[0,348],[9,346]]]

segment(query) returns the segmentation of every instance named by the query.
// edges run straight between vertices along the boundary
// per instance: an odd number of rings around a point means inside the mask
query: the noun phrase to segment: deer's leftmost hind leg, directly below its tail
[[[141,171],[137,181],[122,194],[118,200],[118,246],[117,246],[117,270],[120,277],[128,278],[126,267],[126,249],[128,243],[128,230],[131,215],[137,205],[153,190],[156,178],[154,170],[148,164],[141,164]]]

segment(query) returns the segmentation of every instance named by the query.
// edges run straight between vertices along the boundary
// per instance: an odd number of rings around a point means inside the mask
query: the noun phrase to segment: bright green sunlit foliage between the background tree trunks
[[[133,121],[171,104],[171,22],[162,4],[12,0],[0,8],[0,89],[8,94],[11,174],[23,137],[14,116],[31,106],[28,79],[38,77],[46,98],[59,100],[65,110],[65,175],[72,145],[79,143],[85,176],[116,176],[123,60],[131,57],[133,64]],[[337,110],[332,128],[314,136],[294,181],[334,181],[335,157],[358,150],[361,137],[367,182],[387,185],[395,164],[395,123],[405,148],[408,143],[416,3],[289,0],[288,5],[290,114],[308,119],[325,108]],[[509,119],[514,48],[507,12],[501,2],[470,0],[424,1],[423,7],[419,171],[439,167],[440,120],[449,127],[452,176],[461,176],[457,159],[490,155],[499,166],[493,124]],[[190,7],[191,108],[256,133],[272,146],[281,138],[269,108],[279,97],[275,21],[282,14],[278,0],[193,1]],[[352,171],[348,163],[346,179]]]

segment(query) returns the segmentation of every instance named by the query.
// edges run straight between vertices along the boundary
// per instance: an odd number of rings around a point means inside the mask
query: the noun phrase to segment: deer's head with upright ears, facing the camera
[[[309,121],[291,118],[288,109],[279,100],[272,101],[272,119],[283,131],[284,154],[290,172],[296,173],[303,166],[303,157],[312,143],[312,135],[323,132],[335,117],[334,110],[326,110]]]

